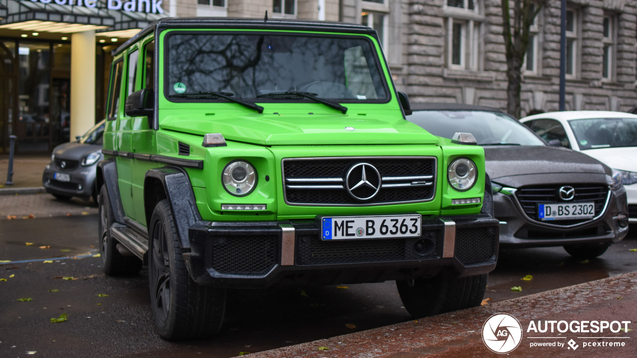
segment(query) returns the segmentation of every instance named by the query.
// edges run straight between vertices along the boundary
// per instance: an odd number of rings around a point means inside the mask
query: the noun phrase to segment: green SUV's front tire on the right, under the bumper
[[[487,277],[485,273],[457,278],[441,271],[431,278],[416,278],[413,286],[406,280],[396,280],[396,287],[404,308],[421,318],[480,306]]]

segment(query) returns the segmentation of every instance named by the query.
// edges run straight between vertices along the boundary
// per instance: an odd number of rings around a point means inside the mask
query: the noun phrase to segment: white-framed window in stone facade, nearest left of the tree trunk
[[[480,15],[475,0],[447,0],[443,9],[447,17],[447,67],[450,69],[479,68]]]

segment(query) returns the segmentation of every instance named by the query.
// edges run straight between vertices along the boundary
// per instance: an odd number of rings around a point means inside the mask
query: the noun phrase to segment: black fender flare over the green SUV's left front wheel
[[[179,234],[182,248],[190,248],[188,229],[201,221],[199,209],[188,174],[179,167],[164,166],[150,169],[144,178],[144,207],[147,226],[155,206],[162,199],[168,199]]]

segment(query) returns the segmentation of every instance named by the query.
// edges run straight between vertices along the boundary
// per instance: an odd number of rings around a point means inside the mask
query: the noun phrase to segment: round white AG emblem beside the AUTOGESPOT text
[[[493,352],[511,352],[522,341],[522,325],[508,313],[496,313],[484,322],[482,341]]]

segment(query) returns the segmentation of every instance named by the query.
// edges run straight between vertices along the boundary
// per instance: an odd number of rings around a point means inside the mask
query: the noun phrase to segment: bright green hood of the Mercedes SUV
[[[438,144],[439,142],[438,138],[418,125],[401,117],[396,118],[396,115],[255,113],[223,120],[214,118],[213,115],[201,117],[173,115],[164,118],[160,127],[200,136],[206,133],[221,133],[225,140],[268,146]]]

